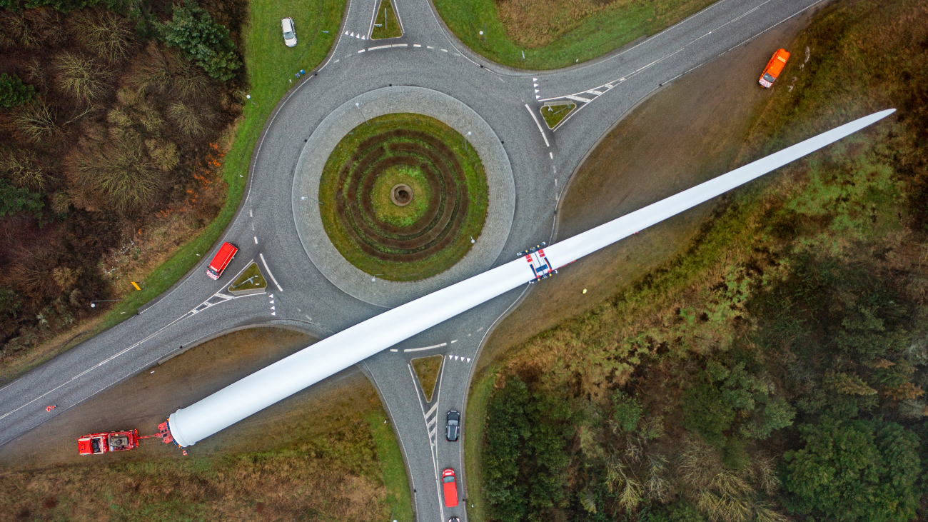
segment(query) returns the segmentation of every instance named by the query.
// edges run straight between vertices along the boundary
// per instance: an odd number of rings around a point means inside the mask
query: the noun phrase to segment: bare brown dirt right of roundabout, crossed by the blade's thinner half
[[[574,173],[559,212],[558,238],[728,172],[773,92],[760,88],[757,76],[770,54],[788,47],[807,23],[806,16],[780,24],[630,111]],[[774,89],[786,88],[788,81],[781,79]],[[516,308],[496,328],[479,368],[509,347],[586,312],[681,253],[713,208],[713,202],[704,203],[588,255],[536,285],[529,297],[531,307]]]

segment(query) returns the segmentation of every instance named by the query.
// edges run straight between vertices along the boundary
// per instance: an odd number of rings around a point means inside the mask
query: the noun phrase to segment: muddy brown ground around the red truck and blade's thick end
[[[204,398],[238,379],[314,343],[303,333],[256,328],[229,333],[197,346],[123,381],[64,411],[23,437],[0,447],[0,471],[113,460],[184,458],[173,444],[157,438],[137,450],[103,456],[80,456],[77,437],[88,433],[137,428],[139,435],[180,406]],[[357,411],[380,408],[380,398],[363,373],[352,367],[282,400],[187,449],[191,454],[270,450],[293,438],[327,433]],[[92,462],[92,461],[91,461]]]

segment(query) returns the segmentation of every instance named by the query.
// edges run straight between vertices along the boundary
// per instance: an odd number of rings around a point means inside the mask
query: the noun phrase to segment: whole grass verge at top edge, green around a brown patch
[[[435,0],[434,4],[448,28],[483,57],[509,67],[544,70],[602,56],[659,33],[713,2]]]

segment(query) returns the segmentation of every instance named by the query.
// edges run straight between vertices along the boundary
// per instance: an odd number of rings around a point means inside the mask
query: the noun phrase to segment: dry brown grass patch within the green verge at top
[[[590,15],[626,7],[635,0],[504,0],[497,2],[499,20],[519,46],[544,46],[579,26]]]

